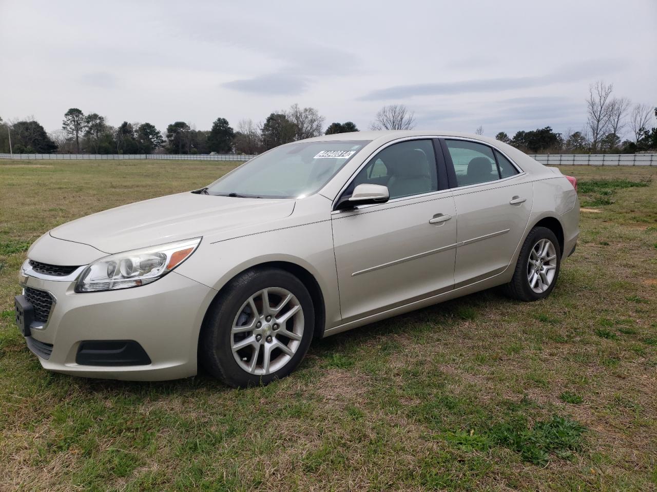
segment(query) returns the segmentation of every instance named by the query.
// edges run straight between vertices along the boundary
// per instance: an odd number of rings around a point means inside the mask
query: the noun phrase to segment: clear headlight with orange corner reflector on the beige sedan
[[[189,258],[200,242],[200,237],[194,237],[105,256],[85,268],[76,292],[127,289],[154,282]]]

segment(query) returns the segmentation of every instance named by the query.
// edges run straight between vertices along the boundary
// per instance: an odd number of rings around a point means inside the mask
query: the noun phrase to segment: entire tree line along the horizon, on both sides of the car
[[[531,154],[551,153],[627,153],[657,151],[657,127],[652,125],[657,108],[634,104],[613,95],[614,86],[599,81],[589,87],[587,121],[582,129],[566,134],[552,127],[505,132],[497,140]],[[384,106],[370,124],[371,130],[411,130],[415,113],[403,104]],[[334,122],[325,127],[325,117],[315,108],[292,104],[288,110],[269,114],[265,121],[242,119],[237,129],[217,117],[210,130],[198,130],[191,123],[175,121],[161,132],[152,123],[124,121],[112,127],[98,113],[70,108],[64,113],[62,128],[53,133],[34,119],[3,122],[0,118],[0,152],[49,154],[51,152],[89,154],[260,154],[276,146],[321,134],[358,131],[351,121]],[[483,134],[483,127],[476,129]]]

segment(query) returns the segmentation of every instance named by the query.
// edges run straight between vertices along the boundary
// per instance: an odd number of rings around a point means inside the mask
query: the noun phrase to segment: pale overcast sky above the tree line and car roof
[[[0,117],[165,130],[298,103],[367,129],[578,131],[588,87],[657,105],[657,0],[0,0]]]

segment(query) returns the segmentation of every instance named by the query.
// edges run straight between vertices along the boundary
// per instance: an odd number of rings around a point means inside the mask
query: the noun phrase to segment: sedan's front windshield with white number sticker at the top
[[[210,195],[297,198],[317,192],[369,141],[299,142],[273,148],[204,189]]]

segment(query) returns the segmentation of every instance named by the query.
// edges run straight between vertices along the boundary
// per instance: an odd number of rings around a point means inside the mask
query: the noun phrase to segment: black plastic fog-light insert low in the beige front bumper
[[[80,342],[76,363],[79,365],[148,365],[150,358],[135,340],[85,340]]]

